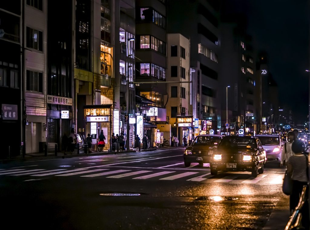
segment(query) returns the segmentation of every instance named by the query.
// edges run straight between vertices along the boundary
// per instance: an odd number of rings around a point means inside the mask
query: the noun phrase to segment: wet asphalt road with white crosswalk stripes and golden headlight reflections
[[[182,154],[171,148],[2,164],[2,218],[31,229],[263,229],[284,196],[284,168],[269,165],[256,179],[211,176],[208,164],[185,168]],[[112,192],[140,196],[100,195]]]

